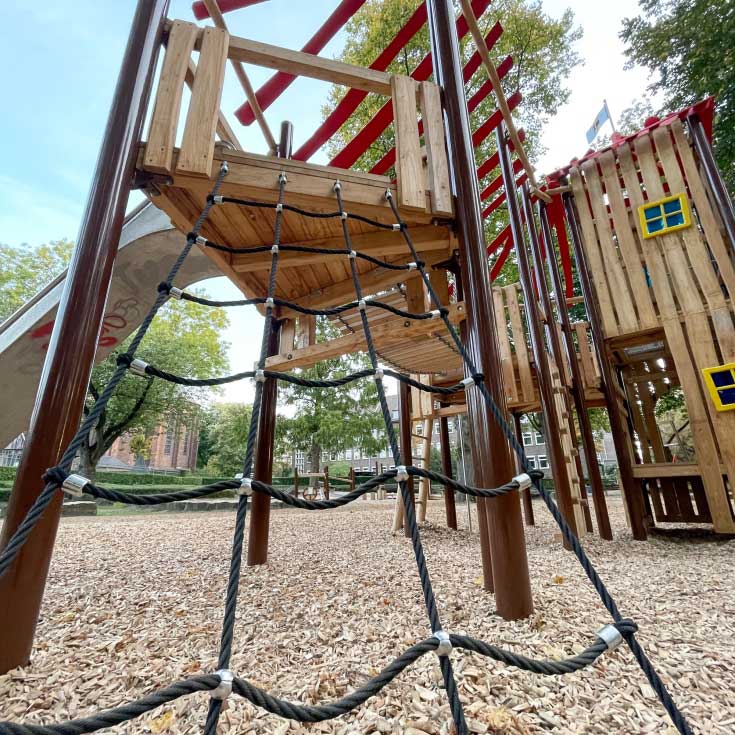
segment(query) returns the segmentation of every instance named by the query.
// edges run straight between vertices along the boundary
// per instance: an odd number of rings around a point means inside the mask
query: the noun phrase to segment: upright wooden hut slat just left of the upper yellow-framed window
[[[615,234],[625,262],[635,305],[638,309],[641,329],[657,327],[659,325],[658,318],[656,317],[656,311],[651,301],[651,292],[644,276],[643,264],[638,255],[635,235],[630,227],[630,220],[628,219],[628,212],[625,208],[623,193],[620,190],[615,157],[612,151],[608,151],[600,156],[600,166],[602,167],[605,190],[607,191],[613,222],[615,223]]]

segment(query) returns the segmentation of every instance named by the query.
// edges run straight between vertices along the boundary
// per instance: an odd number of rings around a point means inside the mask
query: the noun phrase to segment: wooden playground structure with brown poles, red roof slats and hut
[[[343,2],[340,7],[360,4]],[[438,625],[412,485],[418,477],[424,486],[423,497],[433,479],[426,467],[427,437],[431,437],[433,421],[440,421],[444,445],[447,417],[467,412],[475,485],[485,489],[453,481],[445,453],[441,479],[447,487],[447,521],[456,526],[455,490],[478,497],[485,586],[494,590],[500,615],[507,619],[527,616],[532,600],[519,491],[524,493],[526,520],[530,522],[528,486],[531,480],[538,484],[539,477],[524,464],[522,447],[517,438],[513,440],[512,432],[509,434],[508,420],[511,414],[519,417],[540,410],[560,513],[548,493],[540,487],[539,491],[615,624],[598,633],[597,642],[585,652],[584,663],[580,663],[584,654],[576,657],[574,664],[568,660],[556,665],[493,650],[500,660],[527,670],[562,673],[591,663],[625,639],[678,730],[690,732],[636,642],[634,626],[617,611],[578,539],[592,530],[590,505],[598,532],[611,538],[586,412],[591,406],[605,406],[610,413],[635,538],[644,539],[652,523],[667,521],[711,520],[715,531],[733,531],[729,497],[733,458],[724,437],[731,432],[728,422],[734,414],[711,408],[704,378],[700,377],[703,368],[734,359],[729,294],[735,286],[731,238],[735,227],[708,157],[705,131],[710,108],[698,106],[660,121],[631,140],[618,140],[610,150],[574,162],[542,189],[523,152],[522,131],[515,128],[511,117],[519,95],[506,99],[499,83],[503,69],[507,72],[512,61],[496,69],[490,60],[489,48],[501,30],[493,29],[483,38],[475,14],[482,13],[488,2],[475,0],[470,6],[463,0],[461,4],[463,15],[456,22],[451,4],[445,0],[431,0],[417,10],[418,27],[428,12],[433,53],[420,72],[417,69],[408,77],[383,71],[390,59],[383,69],[364,69],[314,56],[314,52],[295,52],[230,36],[222,27],[216,5],[209,0],[204,7],[216,25],[205,28],[165,20],[163,1],[141,3],[100,158],[98,170],[105,175],[96,180],[67,278],[28,448],[3,528],[2,571],[9,571],[0,578],[0,599],[6,600],[0,619],[7,623],[4,630],[13,629],[13,635],[8,633],[0,641],[3,669],[25,663],[30,654],[58,522],[59,487],[67,492],[84,489],[98,497],[141,502],[73,479],[76,476],[69,475],[70,450],[60,459],[76,433],[77,409],[81,408],[103,316],[127,194],[118,184],[132,180],[135,170],[136,182],[151,202],[168,215],[180,233],[190,233],[184,253],[162,283],[149,317],[142,321],[143,331],[156,308],[169,297],[196,300],[177,285],[183,285],[181,281],[173,282],[194,246],[238,285],[245,296],[243,303],[256,305],[266,316],[258,369],[241,375],[255,378],[257,391],[244,479],[204,488],[198,495],[226,488],[237,489],[240,494],[221,671],[195,677],[185,682],[178,694],[166,696],[214,690],[206,727],[206,732],[214,732],[222,701],[233,689],[232,675],[226,669],[249,501],[247,559],[249,564],[261,564],[267,558],[271,498],[297,507],[325,509],[395,478],[401,488],[403,526],[416,551],[434,634],[428,642],[414,647],[416,651],[408,659],[404,656],[401,665],[405,667],[430,650],[439,653],[455,726],[458,732],[465,732],[448,654],[452,645],[494,654],[487,644],[447,636]],[[221,7],[224,9],[224,3]],[[476,52],[463,69],[457,36],[467,32],[475,41]],[[149,130],[143,138],[147,92],[141,90],[150,90],[162,39],[166,53]],[[404,34],[402,42],[405,40]],[[400,43],[396,45],[397,53]],[[196,65],[191,61],[193,52],[199,54]],[[428,80],[432,57],[434,82]],[[266,133],[269,155],[239,150],[219,110],[228,60],[239,70],[251,114]],[[351,88],[345,100],[353,93],[358,97],[382,95],[387,112],[381,112],[378,122],[371,122],[359,133],[332,165],[296,160],[299,151],[291,155],[289,126],[284,126],[277,144],[268,133],[261,101],[252,88],[248,89],[240,66],[243,62],[274,68],[279,74],[342,84]],[[476,102],[465,100],[463,79],[480,66],[488,76],[484,94],[495,95],[498,112],[481,132],[473,134],[467,110]],[[191,86],[191,98],[181,143],[176,146],[185,84]],[[419,111],[421,128],[417,124]],[[349,112],[343,108],[340,114]],[[382,171],[350,169],[364,147],[391,123],[395,151],[388,154],[387,163],[379,164]],[[325,123],[320,135],[328,135],[324,131],[335,124],[334,119]],[[474,146],[481,136],[492,132],[498,143],[497,155],[478,170]],[[315,140],[324,142],[317,135],[305,147],[313,148]],[[302,150],[300,156],[308,158],[308,151]],[[395,181],[386,175],[391,165]],[[480,192],[478,179],[496,169],[500,184],[491,182]],[[481,198],[497,193],[501,185],[504,193],[482,210]],[[662,200],[667,193],[687,197],[693,205],[689,209],[694,224],[689,229],[646,237],[650,234],[645,230],[647,220],[637,219],[638,207]],[[504,258],[515,249],[521,281],[493,289],[485,249],[478,247],[484,243],[481,218],[492,216],[503,204],[510,224],[488,250]],[[578,302],[572,290],[573,263],[582,284],[588,314],[585,322],[571,322],[568,313],[569,304]],[[76,314],[72,316],[72,312]],[[80,320],[77,315],[82,313],[85,317]],[[340,336],[317,342],[317,316],[332,319]],[[390,417],[386,422],[397,467],[354,488],[347,500],[330,501],[327,492],[325,501],[288,501],[269,484],[277,383],[293,380],[291,371],[297,368],[357,350],[370,353],[373,368],[359,377],[376,380],[384,413],[382,378],[387,373],[400,379],[400,455]],[[121,374],[132,368],[159,379],[184,380],[165,373],[166,366],[136,365],[134,352],[129,357],[127,363],[120,364]],[[656,396],[677,385],[684,391],[695,427],[697,462],[687,467],[667,461],[670,457],[651,422],[649,408]],[[63,422],[58,420],[62,414]],[[415,422],[423,423],[423,468],[411,461]],[[84,429],[77,438],[83,438]],[[518,464],[512,459],[509,442],[518,453]],[[586,493],[580,449],[587,461],[593,503]],[[37,478],[47,467],[54,470],[46,475],[46,489],[39,495]],[[517,477],[509,482],[514,474]],[[728,479],[723,480],[723,475]],[[75,487],[75,482],[82,486]],[[426,504],[419,507],[425,511]],[[25,534],[20,542],[16,540],[19,533]],[[392,676],[399,668],[394,664]],[[314,721],[348,711],[390,678],[377,677],[377,683],[370,682],[372,688],[361,690],[365,696],[356,693],[349,707],[340,701],[339,706],[330,705],[332,709],[268,699],[240,679],[235,680],[234,688],[272,712]],[[315,714],[316,710],[319,713]]]

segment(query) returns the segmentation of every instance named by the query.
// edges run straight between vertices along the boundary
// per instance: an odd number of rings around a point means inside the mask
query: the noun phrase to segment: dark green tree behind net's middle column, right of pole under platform
[[[317,321],[317,342],[334,336],[325,319]],[[322,360],[298,372],[303,378],[332,380],[369,367],[366,355],[356,354]],[[280,396],[295,415],[279,417],[279,446],[308,452],[311,471],[321,466],[323,451],[341,452],[357,447],[372,455],[387,444],[385,424],[375,381],[366,378],[344,388],[305,388],[286,384]]]

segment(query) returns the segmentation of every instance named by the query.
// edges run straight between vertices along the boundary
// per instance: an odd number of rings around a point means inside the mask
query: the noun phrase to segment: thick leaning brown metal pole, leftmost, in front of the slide
[[[168,0],[141,0],[133,18],[0,548],[79,428],[167,8]],[[0,673],[30,659],[60,511],[61,493],[0,579]]]

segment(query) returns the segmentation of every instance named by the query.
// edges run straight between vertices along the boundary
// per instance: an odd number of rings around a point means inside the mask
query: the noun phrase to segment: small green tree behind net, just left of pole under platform
[[[242,472],[251,405],[215,403],[208,409],[202,424],[209,443],[207,472],[217,477],[234,477]],[[201,441],[201,436],[200,436]]]

